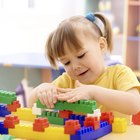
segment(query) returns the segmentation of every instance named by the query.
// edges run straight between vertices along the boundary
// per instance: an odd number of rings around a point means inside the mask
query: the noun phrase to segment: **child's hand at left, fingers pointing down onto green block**
[[[43,83],[34,89],[34,94],[43,105],[47,108],[54,108],[54,104],[57,102],[56,94],[57,88],[51,83]]]

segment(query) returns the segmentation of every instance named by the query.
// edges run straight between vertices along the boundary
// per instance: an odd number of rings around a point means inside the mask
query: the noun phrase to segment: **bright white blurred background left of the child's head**
[[[85,0],[0,2],[0,54],[43,53],[48,34],[63,19],[85,13]]]

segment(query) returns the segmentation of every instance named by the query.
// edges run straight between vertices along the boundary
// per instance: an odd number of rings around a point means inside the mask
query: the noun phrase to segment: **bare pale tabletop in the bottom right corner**
[[[140,125],[130,125],[125,133],[110,133],[99,140],[140,140]]]

